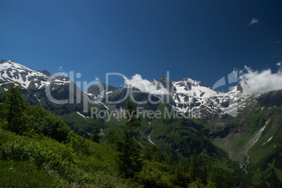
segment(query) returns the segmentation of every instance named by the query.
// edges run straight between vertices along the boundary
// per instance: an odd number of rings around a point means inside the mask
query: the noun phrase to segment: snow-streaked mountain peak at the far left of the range
[[[76,90],[79,88],[74,86],[70,90],[69,86],[72,82],[66,76],[54,76],[46,70],[35,71],[11,60],[1,60],[0,95],[4,94],[4,90],[8,90],[11,83],[20,86],[25,99],[32,105],[46,107],[56,114],[63,111],[70,112],[70,109],[77,108],[77,105],[74,104],[60,109],[58,104],[54,103],[54,100],[58,100],[57,103],[60,103],[64,100],[70,102],[76,98]]]

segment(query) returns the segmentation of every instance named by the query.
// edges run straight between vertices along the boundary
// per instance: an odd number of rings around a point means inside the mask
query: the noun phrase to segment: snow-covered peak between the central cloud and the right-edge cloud
[[[236,116],[238,108],[246,100],[241,95],[240,85],[235,86],[228,93],[224,93],[193,79],[170,81],[162,77],[159,80],[153,80],[152,83],[156,86],[161,83],[162,86],[168,88],[173,99],[170,104],[177,111],[189,113],[194,117],[209,114]]]

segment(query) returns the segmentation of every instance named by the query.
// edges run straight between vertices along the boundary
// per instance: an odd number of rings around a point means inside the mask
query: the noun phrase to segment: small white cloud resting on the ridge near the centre
[[[135,74],[132,79],[125,79],[125,85],[138,88],[145,93],[164,94],[168,93],[161,83],[152,83],[147,79],[142,79],[140,74]]]

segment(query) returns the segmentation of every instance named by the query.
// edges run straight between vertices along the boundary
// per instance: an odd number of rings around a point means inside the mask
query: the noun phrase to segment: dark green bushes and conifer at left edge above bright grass
[[[5,93],[6,100],[0,104],[0,127],[20,135],[39,133],[59,142],[65,141],[69,127],[59,116],[23,101],[20,88],[11,85]]]

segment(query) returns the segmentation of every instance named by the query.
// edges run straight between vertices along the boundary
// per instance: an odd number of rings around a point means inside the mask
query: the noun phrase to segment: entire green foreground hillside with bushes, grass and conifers
[[[141,148],[140,119],[126,119],[123,132],[109,130],[99,143],[76,135],[51,112],[25,104],[11,85],[0,105],[1,187],[234,187],[231,173],[211,161],[175,160],[153,145]],[[128,112],[135,104],[128,102]]]

